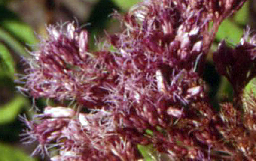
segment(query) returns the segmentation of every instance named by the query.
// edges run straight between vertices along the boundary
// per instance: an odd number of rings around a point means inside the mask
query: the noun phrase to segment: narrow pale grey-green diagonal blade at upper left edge
[[[5,42],[17,54],[24,57],[28,56],[28,53],[25,50],[25,47],[20,42],[18,42],[18,40],[16,40],[12,35],[10,35],[8,32],[3,30],[2,27],[0,27],[0,40]]]

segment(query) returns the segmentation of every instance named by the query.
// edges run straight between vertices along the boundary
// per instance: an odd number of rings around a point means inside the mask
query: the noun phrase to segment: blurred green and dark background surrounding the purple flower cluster
[[[0,0],[0,161],[36,161],[39,156],[29,157],[36,147],[22,144],[19,134],[25,128],[18,115],[32,115],[32,105],[44,107],[43,99],[33,100],[18,92],[18,74],[23,74],[27,64],[24,58],[36,48],[38,37],[46,36],[46,25],[76,20],[90,33],[91,46],[94,38],[120,31],[119,22],[111,20],[114,10],[126,12],[139,0]],[[256,17],[254,1],[248,1],[236,15],[224,21],[216,36],[217,42],[227,39],[231,45],[239,42],[246,27],[254,27]],[[88,25],[88,23],[90,23]],[[216,104],[219,100],[231,100],[232,89],[225,79],[216,74],[211,60],[207,58],[204,80],[209,86],[209,96]],[[213,81],[214,80],[214,81]],[[143,147],[140,147],[143,149]],[[153,161],[151,155],[147,161]],[[49,160],[49,158],[44,158]]]

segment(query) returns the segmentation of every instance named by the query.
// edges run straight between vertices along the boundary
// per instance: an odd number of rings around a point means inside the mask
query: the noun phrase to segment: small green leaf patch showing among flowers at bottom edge
[[[158,152],[153,145],[138,145],[140,153],[143,155],[144,161],[158,161]]]

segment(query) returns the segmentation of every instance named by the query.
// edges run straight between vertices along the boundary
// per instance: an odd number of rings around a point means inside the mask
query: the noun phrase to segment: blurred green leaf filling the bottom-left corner
[[[21,150],[0,143],[0,161],[35,161]]]

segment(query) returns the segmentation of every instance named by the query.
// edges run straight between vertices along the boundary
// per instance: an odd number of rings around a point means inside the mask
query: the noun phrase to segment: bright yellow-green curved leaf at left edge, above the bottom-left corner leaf
[[[22,97],[21,95],[17,95],[11,101],[0,106],[0,124],[15,120],[18,113],[21,111],[21,108],[28,104],[29,102],[26,98]]]

